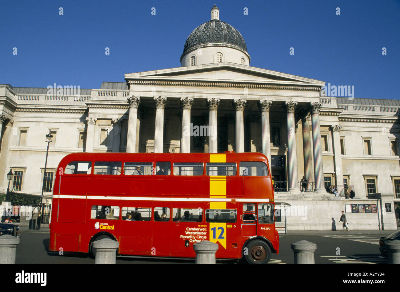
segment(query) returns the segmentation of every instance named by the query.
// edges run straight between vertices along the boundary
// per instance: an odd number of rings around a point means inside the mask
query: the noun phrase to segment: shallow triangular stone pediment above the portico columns
[[[235,82],[323,86],[325,82],[229,62],[125,74],[125,80]]]

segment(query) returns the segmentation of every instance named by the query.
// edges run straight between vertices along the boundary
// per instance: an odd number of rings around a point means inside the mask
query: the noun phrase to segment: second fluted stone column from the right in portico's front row
[[[296,128],[294,124],[294,110],[297,102],[285,102],[282,107],[286,110],[286,124],[288,130],[288,191],[298,192],[297,155],[296,155]]]

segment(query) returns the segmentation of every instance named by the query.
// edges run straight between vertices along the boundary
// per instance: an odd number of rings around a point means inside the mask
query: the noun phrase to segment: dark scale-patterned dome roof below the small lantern
[[[192,31],[185,42],[182,56],[194,46],[212,42],[231,44],[247,52],[246,43],[236,28],[221,20],[212,19]]]

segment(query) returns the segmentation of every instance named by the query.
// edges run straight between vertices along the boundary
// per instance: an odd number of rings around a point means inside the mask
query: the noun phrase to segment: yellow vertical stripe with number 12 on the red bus
[[[210,162],[226,162],[225,154],[210,154]],[[210,176],[210,198],[226,198],[226,176]],[[226,202],[210,202],[210,209],[224,210]],[[210,222],[210,242],[226,249],[226,223]]]

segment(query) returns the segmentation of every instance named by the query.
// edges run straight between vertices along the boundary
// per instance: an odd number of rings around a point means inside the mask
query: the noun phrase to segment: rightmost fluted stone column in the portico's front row
[[[314,192],[325,194],[324,169],[322,165],[321,129],[320,129],[320,108],[322,104],[314,102],[311,104],[312,124],[312,148],[314,151]]]

